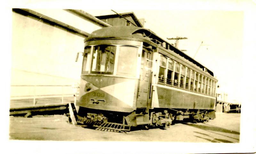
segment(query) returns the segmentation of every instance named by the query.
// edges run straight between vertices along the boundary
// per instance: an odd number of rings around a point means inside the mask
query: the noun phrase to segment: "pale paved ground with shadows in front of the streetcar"
[[[68,118],[63,115],[11,116],[9,135],[11,140],[239,143],[240,114],[216,113],[216,116],[207,123],[177,123],[167,129],[152,128],[128,133],[77,127],[68,124]]]

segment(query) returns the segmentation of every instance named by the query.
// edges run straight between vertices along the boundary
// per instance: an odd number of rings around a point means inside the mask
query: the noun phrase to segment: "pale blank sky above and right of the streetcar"
[[[111,10],[85,10],[94,15],[115,14]],[[144,18],[144,27],[166,38],[187,37],[180,40],[178,48],[209,70],[219,80],[218,91],[228,94],[228,99],[239,98],[237,81],[241,75],[243,50],[243,11],[222,10],[115,10],[118,13],[134,12]],[[201,42],[203,41],[203,44]],[[168,41],[174,43],[174,41]]]

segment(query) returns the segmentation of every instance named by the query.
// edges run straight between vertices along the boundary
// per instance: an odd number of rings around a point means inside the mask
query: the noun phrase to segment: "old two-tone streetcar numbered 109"
[[[112,26],[84,40],[77,122],[129,131],[215,118],[213,72],[149,29]]]

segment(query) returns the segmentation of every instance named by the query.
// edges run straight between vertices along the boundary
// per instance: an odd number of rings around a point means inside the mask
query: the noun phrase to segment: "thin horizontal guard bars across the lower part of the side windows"
[[[193,87],[193,85],[188,86],[187,84],[183,84],[183,83],[178,83],[178,82],[174,82],[171,79],[168,78],[163,78],[163,77],[158,77],[158,84],[163,84],[163,85],[167,85],[167,86],[172,86],[172,87],[176,87],[179,89],[184,89],[190,92],[195,92],[195,93],[201,93],[204,95],[208,95],[208,96],[213,96],[212,92],[209,92],[206,90],[206,92],[204,92],[204,88],[201,91],[201,88],[198,88],[198,90],[196,88]]]

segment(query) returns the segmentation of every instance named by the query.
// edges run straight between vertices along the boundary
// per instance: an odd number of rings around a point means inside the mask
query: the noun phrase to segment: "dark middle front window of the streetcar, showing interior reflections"
[[[116,46],[94,46],[92,55],[92,73],[113,74],[115,54]]]

